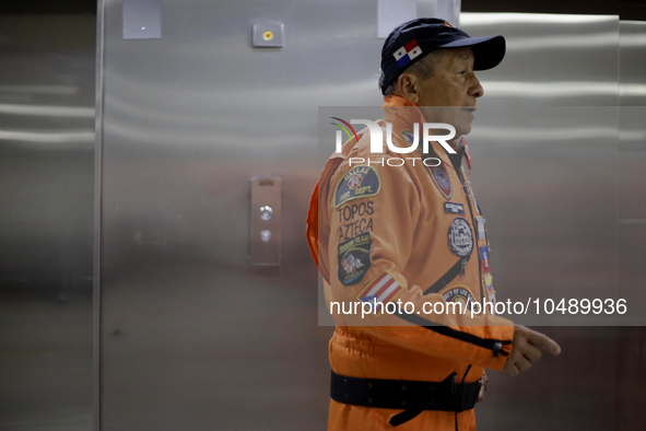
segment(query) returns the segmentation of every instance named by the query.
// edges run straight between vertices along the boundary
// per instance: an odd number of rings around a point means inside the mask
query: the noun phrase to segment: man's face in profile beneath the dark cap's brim
[[[458,138],[471,131],[475,101],[484,90],[473,74],[471,48],[439,50],[433,77],[420,81],[418,106],[426,121],[454,126]]]

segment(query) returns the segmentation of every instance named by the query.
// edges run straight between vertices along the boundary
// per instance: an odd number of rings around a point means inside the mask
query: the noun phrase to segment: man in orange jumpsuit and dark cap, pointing
[[[504,53],[502,36],[471,38],[443,20],[400,25],[381,51],[386,115],[377,124],[386,151],[372,153],[364,129],[324,168],[307,237],[337,324],[330,431],[474,430],[485,368],[517,375],[541,349],[560,352],[544,335],[491,312],[448,306],[495,302],[461,136],[483,95],[473,70],[495,67]],[[392,150],[412,147],[424,123],[450,125],[455,136],[412,153]],[[362,313],[364,303],[374,313]],[[348,313],[353,304],[360,310]]]

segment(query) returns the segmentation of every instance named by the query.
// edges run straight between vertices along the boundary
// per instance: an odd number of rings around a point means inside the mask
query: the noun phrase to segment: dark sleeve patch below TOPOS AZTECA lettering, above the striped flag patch
[[[339,281],[352,286],[363,280],[371,267],[373,240],[366,232],[339,244]]]

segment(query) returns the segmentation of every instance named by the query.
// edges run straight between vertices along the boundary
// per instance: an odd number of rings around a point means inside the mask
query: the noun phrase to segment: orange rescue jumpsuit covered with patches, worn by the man
[[[384,110],[386,116],[378,121],[384,136],[388,121],[392,143],[410,147],[413,123],[424,123],[419,108],[388,96]],[[422,311],[425,302],[465,304],[482,302],[483,296],[495,301],[484,220],[467,179],[467,158],[456,168],[439,143],[432,145],[442,160],[437,167],[426,167],[421,160],[414,166],[409,160],[400,167],[356,161],[351,166],[350,158],[421,156],[395,153],[386,144],[385,153],[369,153],[369,133],[364,129],[359,142],[348,141],[342,153],[327,162],[312,197],[307,238],[325,280],[328,308],[332,301],[350,304],[375,298],[383,303],[412,302],[415,311]],[[460,273],[437,292],[424,294],[456,263],[462,266]],[[441,382],[456,372],[458,383],[472,383],[484,368],[501,370],[512,351],[513,324],[489,314],[418,315],[428,326],[388,313],[362,318],[361,313],[338,313],[338,307],[332,316],[337,327],[329,343],[330,364],[347,376]],[[332,399],[328,430],[475,429],[472,409],[424,410],[391,427],[389,419],[401,411]]]

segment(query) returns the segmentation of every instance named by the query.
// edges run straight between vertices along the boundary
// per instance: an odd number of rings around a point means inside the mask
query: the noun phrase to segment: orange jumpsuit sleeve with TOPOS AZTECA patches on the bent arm
[[[502,369],[512,350],[512,322],[491,315],[471,317],[470,312],[423,313],[425,303],[443,302],[446,310],[447,302],[441,294],[424,294],[419,286],[410,286],[402,275],[402,269],[413,258],[411,248],[421,217],[420,190],[406,170],[376,165],[373,171],[376,176],[372,171],[364,171],[361,184],[361,187],[376,187],[378,179],[379,189],[372,196],[365,193],[365,197],[352,197],[336,188],[340,179],[348,182],[348,175],[359,172],[347,165],[339,168],[326,193],[319,196],[319,220],[325,212],[329,223],[329,229],[319,226],[319,267],[321,260],[327,261],[328,307],[337,324],[362,326],[367,334],[424,354]],[[351,198],[343,200],[348,196]],[[354,232],[359,234],[351,240],[343,232],[341,210],[364,214]],[[374,301],[383,303],[410,302],[414,312],[343,313],[343,310],[356,310],[354,304],[362,306],[365,301],[373,301],[373,296],[376,296]]]

